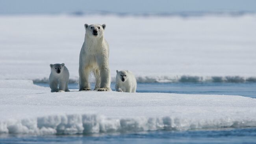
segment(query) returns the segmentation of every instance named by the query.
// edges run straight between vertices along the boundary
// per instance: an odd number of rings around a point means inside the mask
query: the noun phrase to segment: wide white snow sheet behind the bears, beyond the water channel
[[[256,81],[256,15],[182,18],[0,16],[0,79],[47,82],[50,63],[78,80],[84,23],[106,23],[111,77],[131,70],[138,82]],[[114,79],[113,79],[114,80]]]

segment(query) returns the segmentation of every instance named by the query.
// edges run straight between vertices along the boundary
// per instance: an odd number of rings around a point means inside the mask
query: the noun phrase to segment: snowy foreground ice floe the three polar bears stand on
[[[10,87],[4,87],[5,83]],[[50,93],[49,88],[25,80],[0,80],[0,110],[0,133],[41,135],[256,126],[256,99],[249,97],[74,90]]]

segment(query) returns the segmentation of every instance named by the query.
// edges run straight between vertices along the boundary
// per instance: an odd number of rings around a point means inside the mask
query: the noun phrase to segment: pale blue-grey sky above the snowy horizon
[[[117,13],[256,12],[256,0],[0,0],[0,14],[47,14],[76,11]]]

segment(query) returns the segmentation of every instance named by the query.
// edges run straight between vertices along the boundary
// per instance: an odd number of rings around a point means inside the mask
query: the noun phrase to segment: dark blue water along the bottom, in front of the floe
[[[255,144],[256,128],[102,135],[0,136],[0,144]]]

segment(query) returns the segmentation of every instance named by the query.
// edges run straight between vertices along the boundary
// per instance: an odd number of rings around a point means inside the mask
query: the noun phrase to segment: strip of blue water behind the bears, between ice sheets
[[[49,87],[46,83],[36,85]],[[94,85],[91,85],[94,88]],[[69,84],[70,89],[78,89],[77,84]],[[115,90],[115,83],[111,83]],[[256,98],[256,83],[138,83],[136,92],[162,92],[176,94],[241,95]]]

